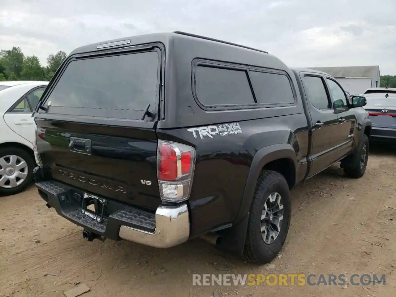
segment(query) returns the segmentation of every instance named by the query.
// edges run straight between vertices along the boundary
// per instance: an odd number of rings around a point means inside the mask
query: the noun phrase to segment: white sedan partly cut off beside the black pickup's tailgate
[[[48,82],[0,82],[0,195],[17,194],[33,179],[36,167],[32,112]]]

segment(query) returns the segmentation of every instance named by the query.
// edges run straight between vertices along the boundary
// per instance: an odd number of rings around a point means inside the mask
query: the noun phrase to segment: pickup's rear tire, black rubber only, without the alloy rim
[[[271,193],[278,192],[283,204],[283,220],[280,232],[276,239],[267,244],[261,233],[261,215],[264,204]],[[246,241],[242,258],[255,264],[265,264],[272,261],[282,249],[291,217],[291,199],[289,186],[284,176],[276,171],[265,170],[261,173],[253,201],[250,207],[249,222],[247,225]]]

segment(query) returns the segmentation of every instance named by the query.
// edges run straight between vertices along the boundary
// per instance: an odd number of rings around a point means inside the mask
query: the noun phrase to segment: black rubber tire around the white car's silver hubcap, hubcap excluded
[[[36,166],[36,163],[29,152],[27,150],[24,150],[23,148],[19,147],[5,147],[5,148],[0,148],[0,158],[3,158],[4,156],[8,155],[15,155],[21,157],[25,162],[27,163],[27,177],[25,180],[20,184],[17,185],[16,187],[13,188],[4,188],[0,186],[0,195],[1,196],[8,196],[8,195],[14,195],[18,194],[22,191],[24,191],[29,185],[32,183],[33,180],[33,169]],[[1,165],[0,165],[0,168]],[[2,175],[0,175],[0,179],[2,178]]]

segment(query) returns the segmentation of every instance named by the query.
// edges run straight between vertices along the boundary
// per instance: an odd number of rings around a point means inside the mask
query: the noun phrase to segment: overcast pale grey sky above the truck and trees
[[[181,30],[259,49],[290,67],[379,65],[396,75],[395,0],[0,0],[0,49],[50,53]]]

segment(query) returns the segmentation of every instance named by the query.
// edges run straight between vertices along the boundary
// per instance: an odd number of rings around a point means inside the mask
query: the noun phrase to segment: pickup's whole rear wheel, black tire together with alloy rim
[[[286,179],[276,171],[263,171],[250,208],[242,257],[256,264],[274,259],[286,240],[290,217],[291,199]]]

